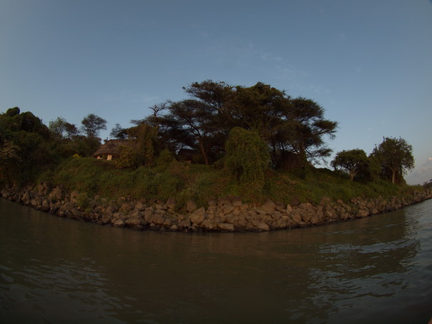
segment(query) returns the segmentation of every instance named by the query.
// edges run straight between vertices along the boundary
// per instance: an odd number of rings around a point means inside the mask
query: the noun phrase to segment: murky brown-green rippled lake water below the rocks
[[[428,323],[432,200],[266,233],[96,226],[0,199],[0,323]]]

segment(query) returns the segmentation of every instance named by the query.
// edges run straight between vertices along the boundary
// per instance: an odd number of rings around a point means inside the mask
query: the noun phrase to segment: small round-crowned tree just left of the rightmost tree
[[[359,173],[365,171],[368,166],[368,157],[365,151],[360,149],[341,151],[336,154],[336,157],[331,161],[331,166],[335,168],[343,168],[348,171],[351,181]]]

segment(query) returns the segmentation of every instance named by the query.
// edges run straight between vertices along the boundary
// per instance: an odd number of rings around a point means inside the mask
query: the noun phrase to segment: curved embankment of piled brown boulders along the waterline
[[[136,230],[260,232],[320,226],[396,211],[432,198],[432,189],[390,199],[351,198],[344,202],[323,197],[316,206],[311,203],[290,206],[270,200],[252,206],[241,198],[227,197],[209,201],[206,208],[196,206],[193,201],[180,208],[174,199],[136,201],[122,197],[107,201],[99,196],[89,199],[76,191],[66,193],[61,186],[51,188],[48,183],[21,191],[4,188],[1,197],[60,217]]]

